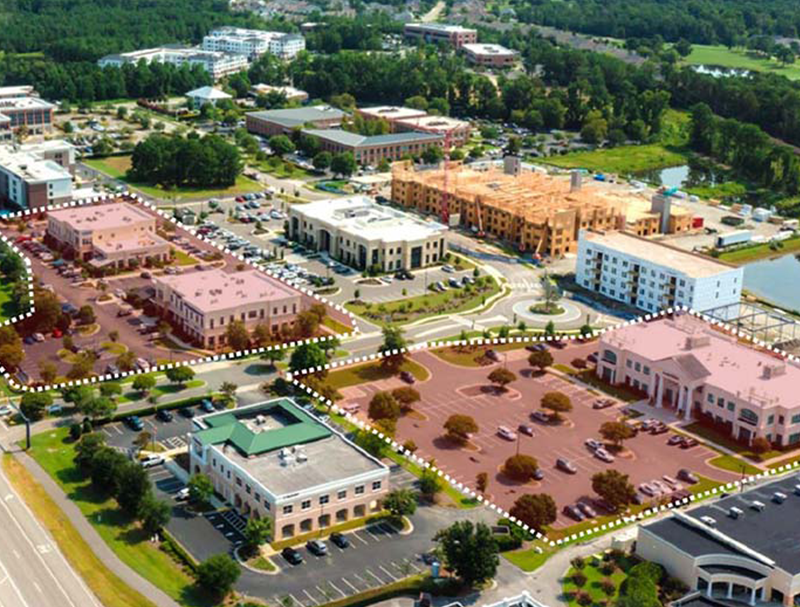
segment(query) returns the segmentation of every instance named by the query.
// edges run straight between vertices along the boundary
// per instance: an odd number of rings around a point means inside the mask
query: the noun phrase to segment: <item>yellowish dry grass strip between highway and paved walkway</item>
[[[70,565],[103,605],[155,607],[154,603],[128,586],[105,566],[72,526],[64,512],[12,455],[3,456],[3,470],[36,518],[47,527]]]

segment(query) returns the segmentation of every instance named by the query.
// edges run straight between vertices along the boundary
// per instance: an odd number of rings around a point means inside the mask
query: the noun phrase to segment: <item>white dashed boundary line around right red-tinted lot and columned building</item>
[[[788,360],[788,361],[791,361],[791,362],[797,362],[798,360],[800,360],[800,358],[798,358],[797,356],[794,356],[793,354],[789,354],[789,353],[781,350],[780,348],[775,348],[774,346],[771,346],[771,345],[769,345],[769,344],[767,344],[767,343],[765,343],[765,342],[763,342],[763,341],[761,341],[759,339],[751,338],[750,336],[746,335],[743,331],[740,331],[737,328],[732,327],[731,325],[728,325],[725,322],[716,320],[714,318],[711,318],[711,317],[707,316],[706,314],[703,314],[701,312],[696,312],[696,311],[694,311],[694,310],[692,310],[690,308],[687,308],[685,306],[679,306],[679,307],[675,307],[675,308],[668,308],[668,309],[662,310],[662,311],[660,311],[658,313],[645,314],[643,316],[640,316],[640,317],[632,319],[632,320],[623,321],[623,322],[620,322],[620,323],[618,323],[616,325],[613,325],[613,326],[610,326],[610,327],[606,327],[606,328],[603,328],[603,329],[595,330],[595,331],[592,332],[592,334],[590,336],[587,336],[587,337],[592,337],[592,338],[599,337],[600,335],[602,335],[603,333],[606,333],[608,331],[615,331],[616,329],[620,329],[622,327],[643,323],[643,322],[646,322],[646,321],[654,320],[656,318],[660,318],[662,316],[669,316],[669,315],[672,315],[672,314],[675,314],[675,313],[686,313],[686,314],[691,314],[693,316],[696,316],[696,317],[706,321],[710,325],[716,327],[717,329],[720,329],[720,330],[728,333],[731,336],[735,336],[735,337],[738,337],[740,339],[747,340],[747,341],[751,342],[752,345],[757,346],[757,347],[762,348],[762,349],[765,349],[765,350],[768,350],[768,351],[770,351],[770,352],[772,352],[774,354],[778,354],[779,356],[781,356],[785,360]],[[344,361],[331,362],[331,363],[329,363],[327,365],[324,365],[324,366],[321,366],[321,367],[312,367],[312,368],[309,368],[309,369],[303,369],[302,371],[297,372],[295,375],[296,376],[303,376],[303,375],[308,375],[308,374],[316,373],[316,372],[323,371],[323,370],[324,371],[333,370],[333,369],[336,369],[338,367],[344,367],[344,366],[352,365],[354,363],[366,363],[366,362],[371,362],[371,361],[377,361],[377,360],[380,360],[380,359],[384,358],[385,356],[391,356],[391,355],[394,355],[394,354],[400,354],[400,353],[406,353],[406,352],[410,354],[410,353],[413,353],[413,352],[418,351],[418,350],[428,350],[428,349],[440,348],[440,347],[459,346],[459,345],[494,345],[494,344],[527,343],[527,342],[556,341],[556,340],[563,341],[563,340],[575,340],[575,339],[578,339],[580,337],[581,337],[580,335],[556,335],[556,336],[549,336],[549,337],[548,336],[544,336],[544,335],[539,335],[539,336],[528,336],[528,337],[496,337],[496,338],[491,338],[491,339],[473,338],[473,339],[469,339],[469,340],[422,342],[422,343],[419,343],[419,344],[411,345],[411,346],[409,346],[407,348],[403,348],[402,350],[392,350],[391,352],[384,352],[384,353],[381,353],[381,354],[369,354],[369,355],[366,355],[366,356],[358,356],[358,357],[351,358],[351,359],[344,360]],[[423,458],[421,458],[421,457],[419,457],[417,455],[414,455],[413,453],[411,453],[410,451],[405,449],[397,441],[395,441],[393,438],[384,435],[379,429],[373,427],[369,423],[365,423],[365,422],[361,421],[360,419],[358,419],[354,415],[352,415],[352,414],[348,413],[347,411],[345,411],[344,409],[340,408],[338,405],[336,405],[336,403],[334,403],[330,399],[325,398],[324,396],[322,396],[321,394],[319,394],[318,392],[316,392],[315,390],[313,390],[312,388],[310,388],[309,386],[307,386],[306,384],[301,382],[299,379],[297,379],[296,376],[292,376],[291,373],[289,373],[287,375],[287,377],[292,381],[292,383],[295,386],[298,386],[302,390],[305,390],[310,396],[312,396],[313,398],[317,399],[318,401],[324,402],[335,413],[345,417],[347,419],[347,421],[349,421],[350,423],[356,425],[359,429],[364,430],[366,432],[372,432],[373,434],[378,435],[380,438],[385,440],[386,443],[395,452],[402,454],[403,456],[405,456],[407,459],[409,459],[412,463],[416,464],[417,466],[421,466],[423,468],[429,468],[429,469],[433,470],[441,478],[443,478],[445,481],[450,483],[450,485],[452,487],[454,487],[456,490],[461,492],[464,495],[464,497],[466,497],[468,499],[474,499],[479,503],[485,504],[486,506],[488,506],[489,508],[491,508],[492,510],[497,512],[498,515],[500,515],[501,517],[508,518],[513,523],[516,523],[517,525],[522,527],[525,531],[529,531],[529,532],[533,533],[535,535],[536,539],[542,540],[543,542],[547,543],[552,548],[555,548],[555,547],[558,547],[558,546],[561,546],[561,545],[564,545],[564,544],[568,544],[570,542],[573,542],[573,541],[576,541],[576,540],[580,540],[580,539],[583,539],[583,538],[588,538],[588,537],[590,537],[592,535],[595,535],[595,534],[598,534],[598,533],[604,533],[604,532],[610,531],[610,530],[612,530],[612,529],[614,529],[616,527],[623,527],[623,526],[625,526],[625,525],[627,525],[629,523],[632,523],[632,522],[635,522],[635,521],[644,520],[645,518],[649,518],[649,517],[654,516],[654,515],[656,515],[658,513],[665,512],[667,510],[671,510],[673,508],[677,508],[677,507],[680,507],[680,506],[684,506],[684,505],[689,504],[691,502],[702,500],[702,499],[704,499],[704,498],[706,498],[706,497],[708,497],[710,495],[716,495],[716,494],[724,493],[724,492],[726,492],[728,490],[731,490],[731,489],[739,488],[739,487],[741,487],[743,485],[747,485],[747,484],[749,484],[751,482],[754,482],[756,480],[761,480],[761,479],[768,478],[768,477],[771,477],[771,476],[776,476],[778,474],[781,474],[783,472],[787,472],[789,470],[794,470],[794,469],[796,469],[798,467],[798,465],[800,465],[800,461],[797,461],[797,462],[794,462],[794,463],[790,463],[790,464],[785,464],[783,466],[779,466],[778,468],[768,469],[768,470],[765,470],[764,472],[761,472],[759,474],[754,474],[752,476],[745,477],[742,480],[731,481],[731,482],[725,483],[725,484],[723,484],[723,485],[721,485],[719,487],[715,487],[713,489],[709,489],[709,490],[706,490],[706,491],[703,491],[703,492],[700,492],[700,493],[697,493],[697,494],[693,494],[693,495],[690,495],[689,497],[685,497],[685,498],[680,499],[680,500],[675,500],[673,502],[670,502],[669,504],[653,506],[651,508],[643,510],[642,512],[640,512],[639,514],[636,514],[636,515],[620,516],[619,518],[617,518],[617,519],[615,519],[613,521],[609,521],[608,523],[603,523],[602,525],[597,525],[596,527],[593,527],[591,529],[585,529],[585,530],[580,531],[578,533],[573,533],[572,535],[570,535],[568,537],[565,537],[565,538],[562,538],[562,539],[557,539],[557,540],[550,540],[544,534],[539,533],[538,531],[535,531],[534,529],[529,527],[527,524],[524,524],[524,523],[520,522],[519,520],[517,520],[516,518],[512,517],[506,510],[504,510],[500,506],[492,503],[491,501],[486,499],[480,493],[478,493],[475,490],[471,489],[470,487],[468,487],[464,483],[461,483],[461,482],[457,481],[455,478],[451,477],[449,474],[447,474],[447,473],[443,472],[442,470],[438,469],[436,466],[432,466],[429,462],[425,461]]]

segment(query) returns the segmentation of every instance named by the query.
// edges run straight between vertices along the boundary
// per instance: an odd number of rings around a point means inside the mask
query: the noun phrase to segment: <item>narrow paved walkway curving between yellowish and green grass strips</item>
[[[50,498],[67,515],[72,525],[81,534],[81,537],[89,544],[92,551],[105,563],[109,570],[131,588],[158,605],[158,607],[178,607],[178,604],[169,596],[134,572],[114,554],[94,527],[89,524],[89,521],[86,520],[86,517],[75,503],[64,494],[61,487],[50,478],[39,464],[22,451],[14,453],[14,456],[28,469]]]

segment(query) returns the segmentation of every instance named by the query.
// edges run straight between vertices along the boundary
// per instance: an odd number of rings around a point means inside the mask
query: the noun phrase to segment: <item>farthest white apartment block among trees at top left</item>
[[[221,27],[211,30],[203,38],[203,50],[243,55],[249,60],[265,53],[282,59],[292,59],[305,50],[306,41],[299,34],[267,32],[263,30]]]

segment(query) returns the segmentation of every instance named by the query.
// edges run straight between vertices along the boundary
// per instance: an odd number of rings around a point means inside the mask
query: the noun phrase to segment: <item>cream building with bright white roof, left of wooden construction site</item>
[[[367,196],[318,200],[289,208],[289,234],[358,269],[383,272],[441,261],[447,228],[377,204]]]

